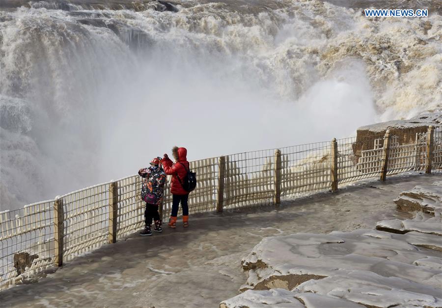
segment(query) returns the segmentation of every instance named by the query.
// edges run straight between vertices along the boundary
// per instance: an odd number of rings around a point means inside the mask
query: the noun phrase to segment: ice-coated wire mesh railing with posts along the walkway
[[[191,162],[197,187],[191,213],[279,204],[367,178],[442,169],[442,129],[430,127],[410,144],[395,136],[356,137],[238,153]],[[128,176],[19,210],[0,212],[0,286],[61,266],[144,224],[142,178]],[[168,182],[170,176],[168,176]],[[161,216],[171,212],[166,184]]]

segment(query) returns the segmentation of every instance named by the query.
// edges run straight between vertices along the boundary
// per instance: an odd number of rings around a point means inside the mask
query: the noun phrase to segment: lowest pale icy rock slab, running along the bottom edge
[[[220,307],[439,307],[442,304],[440,295],[439,289],[409,280],[348,271],[321,280],[308,280],[291,291],[248,290],[221,302]]]

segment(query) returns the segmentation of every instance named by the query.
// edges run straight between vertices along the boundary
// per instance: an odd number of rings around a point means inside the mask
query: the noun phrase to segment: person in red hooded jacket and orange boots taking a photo
[[[163,168],[166,174],[172,175],[172,181],[170,184],[170,192],[172,193],[172,213],[170,214],[169,227],[176,227],[176,217],[178,215],[178,207],[181,202],[181,208],[183,209],[183,226],[189,226],[189,192],[187,192],[181,183],[183,183],[189,170],[189,162],[187,161],[187,150],[184,147],[174,146],[172,149],[173,158],[175,162],[169,159],[167,154],[164,154]]]

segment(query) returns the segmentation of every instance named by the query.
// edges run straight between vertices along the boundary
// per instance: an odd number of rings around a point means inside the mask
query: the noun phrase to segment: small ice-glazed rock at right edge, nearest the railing
[[[423,211],[434,214],[442,212],[442,183],[415,186],[412,190],[402,192],[394,200],[397,207],[403,211]]]

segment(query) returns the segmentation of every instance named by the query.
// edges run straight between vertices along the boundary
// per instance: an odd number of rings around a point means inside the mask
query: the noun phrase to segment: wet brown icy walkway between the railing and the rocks
[[[239,293],[247,276],[241,258],[262,238],[329,233],[405,219],[393,199],[442,174],[361,182],[338,193],[190,216],[190,227],[125,240],[79,257],[38,282],[0,291],[1,307],[218,307]]]

